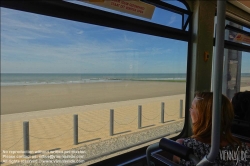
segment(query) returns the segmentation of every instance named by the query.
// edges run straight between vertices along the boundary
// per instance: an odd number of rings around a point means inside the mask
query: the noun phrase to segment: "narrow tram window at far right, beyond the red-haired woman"
[[[236,28],[226,29],[225,40],[249,46],[247,37],[244,32],[249,32],[249,29],[231,21],[226,21],[226,24]],[[238,30],[237,30],[238,29]],[[249,52],[243,52],[235,49],[224,50],[224,71],[223,71],[223,93],[228,98],[232,98],[236,92],[250,91],[250,56]]]

